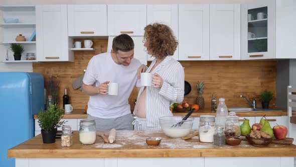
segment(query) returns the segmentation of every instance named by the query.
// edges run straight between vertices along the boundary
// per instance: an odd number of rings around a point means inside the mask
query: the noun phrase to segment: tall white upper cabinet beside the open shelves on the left
[[[38,61],[74,61],[68,39],[67,5],[36,6]]]

